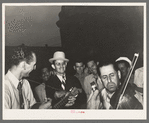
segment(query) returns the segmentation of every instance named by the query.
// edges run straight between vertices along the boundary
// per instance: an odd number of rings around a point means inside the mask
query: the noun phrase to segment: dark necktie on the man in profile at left
[[[17,89],[19,91],[20,109],[24,109],[24,101],[23,101],[23,95],[22,95],[22,83],[21,82],[19,82]]]

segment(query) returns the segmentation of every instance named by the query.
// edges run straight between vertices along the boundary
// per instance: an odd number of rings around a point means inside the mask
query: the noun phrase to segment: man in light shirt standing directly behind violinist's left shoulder
[[[103,89],[102,82],[101,82],[101,80],[98,76],[98,73],[97,73],[97,65],[98,64],[99,63],[96,62],[94,59],[88,59],[88,61],[87,61],[87,67],[91,73],[90,75],[86,76],[84,79],[84,90],[85,90],[87,99],[89,99],[89,95],[91,94],[91,90],[92,90],[91,83],[92,82],[95,82],[99,91],[101,91]]]

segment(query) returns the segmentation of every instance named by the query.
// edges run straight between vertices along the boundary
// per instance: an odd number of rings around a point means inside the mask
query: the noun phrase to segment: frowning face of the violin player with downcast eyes
[[[115,71],[112,64],[100,67],[99,71],[103,85],[108,92],[113,93],[119,86],[118,72]]]

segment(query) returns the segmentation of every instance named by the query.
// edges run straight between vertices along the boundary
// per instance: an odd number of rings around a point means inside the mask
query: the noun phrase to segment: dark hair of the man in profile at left
[[[33,51],[27,47],[17,47],[13,50],[10,60],[10,66],[18,65],[22,61],[30,64],[33,61]],[[34,53],[35,54],[35,53]]]

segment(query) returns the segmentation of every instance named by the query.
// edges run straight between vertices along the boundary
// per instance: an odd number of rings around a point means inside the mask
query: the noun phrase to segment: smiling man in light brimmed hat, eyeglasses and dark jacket
[[[65,53],[61,51],[55,52],[53,58],[49,59],[55,74],[50,77],[47,83],[52,88],[47,87],[46,93],[48,97],[52,98],[54,107],[72,87],[75,87],[76,91],[68,97],[67,104],[61,108],[79,109],[82,108],[82,103],[86,102],[85,93],[83,93],[81,84],[76,77],[66,75],[68,61],[65,58]]]

